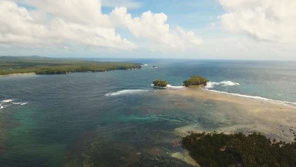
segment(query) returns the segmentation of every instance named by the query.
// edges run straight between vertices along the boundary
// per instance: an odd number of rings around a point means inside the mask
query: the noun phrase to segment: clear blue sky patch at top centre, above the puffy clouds
[[[204,28],[211,22],[217,21],[217,16],[223,14],[223,8],[215,0],[208,1],[137,1],[141,5],[137,9],[129,9],[133,17],[139,17],[145,11],[165,13],[169,16],[167,23],[182,25],[188,29]],[[107,14],[113,8],[102,7],[102,12]]]

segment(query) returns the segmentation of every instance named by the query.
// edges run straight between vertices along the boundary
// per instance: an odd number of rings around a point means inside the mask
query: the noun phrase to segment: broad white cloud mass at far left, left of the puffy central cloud
[[[85,14],[84,17],[75,18],[77,15],[75,10],[67,10],[66,6],[73,8],[75,5],[81,5],[75,3],[77,1],[71,1],[72,4],[69,3],[70,1],[65,1],[68,4],[65,3],[67,4],[65,7],[60,6],[59,8],[63,9],[61,11],[57,10],[58,8],[47,10],[54,8],[55,5],[62,5],[60,1],[42,1],[43,5],[35,2],[40,3],[41,1],[32,1],[30,5],[35,5],[37,9],[41,8],[42,11],[31,13],[27,9],[17,6],[16,2],[0,1],[0,42],[42,45],[74,42],[107,48],[132,49],[137,47],[117,35],[114,28],[97,26],[99,22],[91,24],[91,21],[87,20],[88,16],[95,16],[91,12]],[[57,2],[57,4],[51,2]],[[46,7],[42,8],[44,5]],[[88,6],[85,6],[84,10],[86,9]],[[100,7],[95,9],[100,9]],[[45,22],[44,19],[39,18],[42,16],[40,12],[54,16],[46,18],[47,22]],[[74,19],[70,19],[71,16]],[[84,23],[82,23],[83,18],[86,19]],[[88,22],[89,24],[87,24]]]

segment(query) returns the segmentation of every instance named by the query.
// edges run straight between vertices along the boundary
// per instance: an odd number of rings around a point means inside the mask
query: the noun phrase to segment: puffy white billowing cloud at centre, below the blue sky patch
[[[110,13],[117,26],[126,27],[136,37],[143,37],[159,43],[164,48],[186,49],[202,43],[202,39],[193,32],[186,32],[181,27],[175,30],[166,24],[168,16],[164,13],[144,12],[141,17],[132,18],[126,8],[115,8]]]

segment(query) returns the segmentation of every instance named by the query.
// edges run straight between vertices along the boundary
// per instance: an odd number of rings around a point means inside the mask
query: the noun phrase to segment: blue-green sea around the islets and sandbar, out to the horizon
[[[215,112],[218,106],[212,101],[156,97],[162,90],[151,86],[154,79],[182,86],[188,77],[204,75],[212,83],[209,90],[296,103],[296,62],[123,61],[148,65],[0,77],[0,166],[81,166],[81,154],[88,153],[90,143],[98,148],[95,157],[103,166],[184,166],[189,164],[170,156],[182,151],[175,128],[238,123]]]

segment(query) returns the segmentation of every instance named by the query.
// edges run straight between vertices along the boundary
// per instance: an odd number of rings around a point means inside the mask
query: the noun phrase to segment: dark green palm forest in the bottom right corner
[[[192,133],[182,144],[201,166],[296,166],[296,142],[258,133]]]

